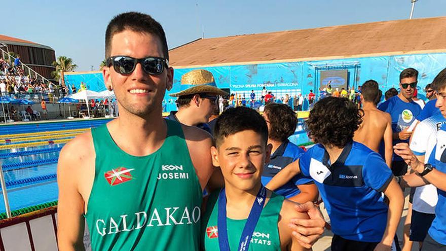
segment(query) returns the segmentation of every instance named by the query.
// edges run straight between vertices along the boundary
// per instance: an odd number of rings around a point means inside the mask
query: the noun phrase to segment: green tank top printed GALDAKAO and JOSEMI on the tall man
[[[198,250],[202,191],[178,122],[155,153],[122,151],[106,125],[91,130],[95,177],[87,220],[92,250]]]

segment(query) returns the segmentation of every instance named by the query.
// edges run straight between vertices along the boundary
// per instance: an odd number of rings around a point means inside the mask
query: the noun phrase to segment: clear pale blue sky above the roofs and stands
[[[198,4],[198,8],[197,5]],[[414,18],[442,16],[444,0],[419,0]],[[98,69],[108,21],[121,12],[152,15],[164,27],[169,48],[201,37],[376,22],[408,18],[410,0],[289,1],[49,1],[2,3],[0,34],[52,47],[71,57],[77,71]],[[7,20],[7,21],[5,21]]]

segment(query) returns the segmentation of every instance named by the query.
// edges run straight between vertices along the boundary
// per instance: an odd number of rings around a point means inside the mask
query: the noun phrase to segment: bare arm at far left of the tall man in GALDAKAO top
[[[76,140],[76,139],[73,139]],[[59,250],[84,250],[84,199],[78,191],[77,182],[81,159],[79,150],[68,142],[60,151],[57,164],[57,185],[59,201],[57,205],[57,240]]]

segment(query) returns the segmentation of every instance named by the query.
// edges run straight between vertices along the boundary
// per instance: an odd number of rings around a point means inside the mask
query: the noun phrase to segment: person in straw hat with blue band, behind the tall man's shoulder
[[[218,89],[212,73],[204,69],[184,74],[180,88],[180,92],[170,94],[171,97],[178,97],[178,112],[170,112],[167,118],[211,133],[207,123],[217,105],[218,96],[228,93]]]

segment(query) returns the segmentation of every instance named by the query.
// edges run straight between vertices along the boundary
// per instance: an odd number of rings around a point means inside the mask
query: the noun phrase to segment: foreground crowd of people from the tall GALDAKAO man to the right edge
[[[413,68],[378,107],[374,80],[313,102],[307,151],[288,140],[297,126],[288,104],[266,102],[261,115],[241,103],[219,115],[218,96],[229,94],[204,69],[182,76],[181,91],[170,94],[178,112],[163,119],[173,69],[152,17],[114,17],[105,45],[104,82],[121,112],[60,153],[61,250],[83,245],[84,217],[93,250],[309,250],[326,226],[313,203],[319,196],[332,251],[400,250],[405,187],[417,188],[403,249],[412,240],[446,250],[446,69],[424,109]]]

